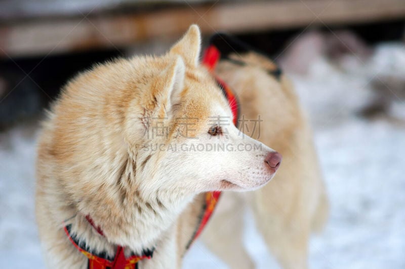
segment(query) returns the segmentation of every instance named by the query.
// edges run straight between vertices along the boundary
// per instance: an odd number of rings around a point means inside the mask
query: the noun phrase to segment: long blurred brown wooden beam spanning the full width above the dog
[[[146,14],[36,20],[0,27],[0,57],[130,46],[156,38],[177,37],[191,23],[198,23],[204,33],[215,30],[240,33],[306,26],[312,22],[332,25],[398,18],[405,18],[404,0],[237,2]]]

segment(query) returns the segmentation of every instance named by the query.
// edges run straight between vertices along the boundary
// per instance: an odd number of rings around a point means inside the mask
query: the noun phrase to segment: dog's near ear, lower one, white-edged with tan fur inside
[[[176,56],[154,81],[154,98],[160,107],[161,104],[164,105],[166,113],[171,110],[173,105],[180,102],[185,72],[183,59]]]

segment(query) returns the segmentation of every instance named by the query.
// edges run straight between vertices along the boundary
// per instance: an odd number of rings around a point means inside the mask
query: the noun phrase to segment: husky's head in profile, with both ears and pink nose
[[[127,109],[124,135],[142,191],[252,190],[280,164],[279,153],[233,125],[199,53],[200,32],[192,25],[166,55],[132,60],[138,93]]]

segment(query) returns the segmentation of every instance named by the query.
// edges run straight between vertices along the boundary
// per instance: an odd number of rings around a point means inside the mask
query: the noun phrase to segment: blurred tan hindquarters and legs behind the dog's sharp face
[[[248,203],[280,265],[306,268],[311,230],[321,229],[328,215],[311,130],[286,76],[277,81],[267,72],[275,68],[270,60],[255,53],[231,57],[248,64],[241,67],[224,60],[216,73],[238,96],[240,115],[246,119],[260,115],[263,120],[260,137],[258,128],[246,133],[272,145],[284,158],[277,175],[263,188],[245,196],[224,195],[203,239],[231,268],[251,266],[241,247],[241,216],[244,203]]]

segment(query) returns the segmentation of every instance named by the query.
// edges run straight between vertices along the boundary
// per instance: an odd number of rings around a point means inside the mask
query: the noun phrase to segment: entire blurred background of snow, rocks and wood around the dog
[[[272,55],[315,136],[331,203],[311,268],[405,268],[405,1],[0,1],[0,260],[43,268],[34,218],[39,121],[77,72],[165,52],[191,23]],[[277,268],[248,212],[246,246]],[[184,268],[225,268],[202,244]]]

